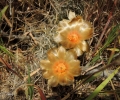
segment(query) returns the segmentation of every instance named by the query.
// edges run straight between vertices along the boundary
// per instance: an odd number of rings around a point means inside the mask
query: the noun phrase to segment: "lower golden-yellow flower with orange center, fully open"
[[[77,56],[66,51],[64,47],[52,49],[48,52],[48,60],[41,60],[43,77],[48,79],[48,85],[55,87],[70,85],[74,82],[74,76],[80,75],[80,61]]]

